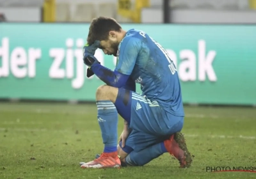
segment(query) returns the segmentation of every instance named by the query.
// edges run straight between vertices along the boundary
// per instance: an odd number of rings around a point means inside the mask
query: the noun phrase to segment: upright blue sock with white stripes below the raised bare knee
[[[116,107],[110,100],[100,100],[96,104],[98,108],[98,122],[104,143],[104,152],[116,152],[118,124]]]

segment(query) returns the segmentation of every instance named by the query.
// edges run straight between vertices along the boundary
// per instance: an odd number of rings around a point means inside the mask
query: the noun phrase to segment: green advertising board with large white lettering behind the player
[[[0,98],[95,100],[83,45],[90,24],[0,24]],[[177,65],[184,103],[256,104],[256,26],[123,24],[159,42]],[[102,65],[115,58],[97,50]],[[140,89],[138,88],[138,92]]]

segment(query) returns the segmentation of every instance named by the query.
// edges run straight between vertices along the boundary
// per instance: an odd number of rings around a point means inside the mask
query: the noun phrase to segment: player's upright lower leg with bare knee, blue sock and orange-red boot
[[[118,95],[118,88],[100,86],[96,92],[97,118],[102,134],[104,152],[98,159],[91,162],[81,162],[81,167],[120,167],[120,159],[116,149],[118,113],[114,102]]]

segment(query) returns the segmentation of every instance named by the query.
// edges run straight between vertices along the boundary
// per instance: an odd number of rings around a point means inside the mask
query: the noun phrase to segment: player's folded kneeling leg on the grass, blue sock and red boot
[[[184,137],[180,134],[180,132],[175,132],[174,135],[156,137],[132,130],[125,141],[125,146],[122,147],[122,141],[118,145],[118,155],[122,166],[143,166],[168,152],[179,160],[180,167],[189,167],[191,156],[186,148]]]

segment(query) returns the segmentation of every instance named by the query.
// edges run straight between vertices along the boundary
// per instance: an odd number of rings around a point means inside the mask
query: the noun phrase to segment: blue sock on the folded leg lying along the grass
[[[150,146],[141,150],[140,152],[132,151],[125,158],[125,163],[130,166],[144,166],[148,162],[153,159],[156,159],[163,153],[167,152],[166,148],[163,148],[163,143],[155,144],[154,146]]]

